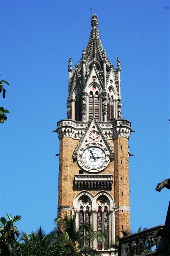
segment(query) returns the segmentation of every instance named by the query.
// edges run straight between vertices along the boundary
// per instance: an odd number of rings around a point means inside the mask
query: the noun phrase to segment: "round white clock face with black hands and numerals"
[[[86,148],[82,153],[82,162],[89,169],[98,169],[105,162],[105,153],[99,147]]]

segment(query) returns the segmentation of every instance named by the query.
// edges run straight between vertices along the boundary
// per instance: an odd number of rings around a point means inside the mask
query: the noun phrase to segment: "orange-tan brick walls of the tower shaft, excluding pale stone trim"
[[[81,170],[77,161],[73,162],[72,158],[78,142],[79,140],[69,137],[63,137],[60,140],[58,207],[72,207],[75,196],[80,193],[80,190],[73,189],[74,175],[79,174],[79,170]],[[105,170],[96,172],[96,174],[113,174],[112,189],[107,190],[107,192],[113,197],[115,207],[129,206],[128,139],[120,137],[115,139],[114,142],[109,140],[109,143],[112,148],[114,147],[115,159],[109,163]],[[89,172],[84,171],[84,174],[89,174]],[[93,195],[99,192],[98,190],[88,191]],[[62,210],[58,214],[64,216],[65,212],[70,213],[69,210]],[[122,227],[124,230],[129,231],[129,218],[128,211],[123,210],[122,212],[120,210],[115,212],[116,235],[122,236]]]

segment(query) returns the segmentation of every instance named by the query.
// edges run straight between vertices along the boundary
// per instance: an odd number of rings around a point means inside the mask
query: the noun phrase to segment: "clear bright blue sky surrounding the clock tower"
[[[66,118],[69,57],[81,58],[91,6],[103,47],[122,63],[123,118],[129,139],[131,230],[165,223],[169,190],[169,1],[1,0],[1,79],[9,109],[1,128],[1,216],[19,214],[19,231],[49,232],[57,213],[59,141]]]

